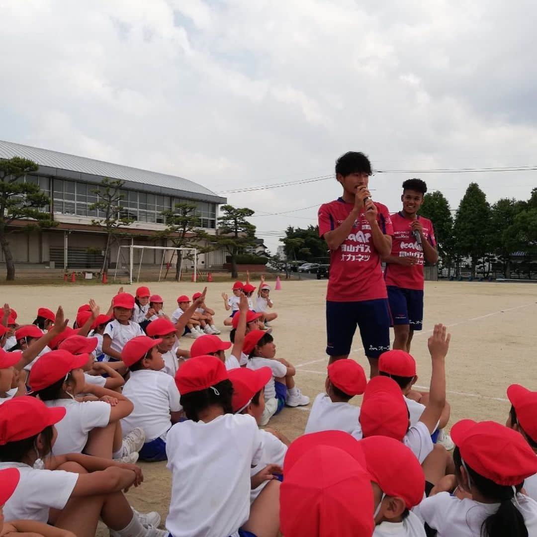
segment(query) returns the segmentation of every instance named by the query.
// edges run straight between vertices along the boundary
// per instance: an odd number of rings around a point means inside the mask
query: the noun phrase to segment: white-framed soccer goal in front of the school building
[[[127,254],[125,256],[125,253]],[[145,254],[145,256],[144,256]],[[123,263],[120,262],[120,258]],[[126,259],[126,261],[125,261]],[[192,271],[193,281],[198,277],[198,250],[172,246],[120,245],[115,263],[114,282],[118,270],[126,269],[129,283],[153,280],[180,279],[185,272]]]

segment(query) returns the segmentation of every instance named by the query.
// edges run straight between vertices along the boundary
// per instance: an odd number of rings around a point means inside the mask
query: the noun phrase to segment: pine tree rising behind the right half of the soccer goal
[[[186,202],[175,204],[173,209],[166,209],[166,211],[162,212],[166,222],[166,229],[157,233],[156,237],[169,239],[175,248],[197,248],[202,253],[213,250],[212,246],[200,248],[201,241],[207,241],[213,237],[198,229],[201,226],[201,219],[195,215],[195,211],[195,204]],[[180,250],[175,271],[176,281],[179,281],[182,265],[183,251]]]

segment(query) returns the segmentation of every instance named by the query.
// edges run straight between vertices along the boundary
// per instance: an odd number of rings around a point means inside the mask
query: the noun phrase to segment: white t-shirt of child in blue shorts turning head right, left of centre
[[[171,427],[170,411],[183,409],[175,381],[164,371],[131,371],[123,387],[123,395],[134,405],[134,410],[121,419],[123,436],[135,427],[142,427],[146,442],[158,437],[164,439]]]

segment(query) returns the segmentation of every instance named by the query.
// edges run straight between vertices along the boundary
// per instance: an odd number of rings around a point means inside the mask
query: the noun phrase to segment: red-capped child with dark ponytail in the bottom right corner
[[[453,459],[460,499],[439,492],[423,500],[416,514],[438,537],[537,535],[537,503],[520,494],[537,473],[537,457],[516,431],[470,419],[453,425]],[[427,528],[428,526],[428,528]]]

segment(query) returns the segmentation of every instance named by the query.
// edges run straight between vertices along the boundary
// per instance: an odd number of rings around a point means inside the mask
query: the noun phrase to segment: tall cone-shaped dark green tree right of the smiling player
[[[455,252],[470,257],[471,275],[478,260],[491,250],[490,205],[477,183],[470,183],[462,198],[453,226]]]

